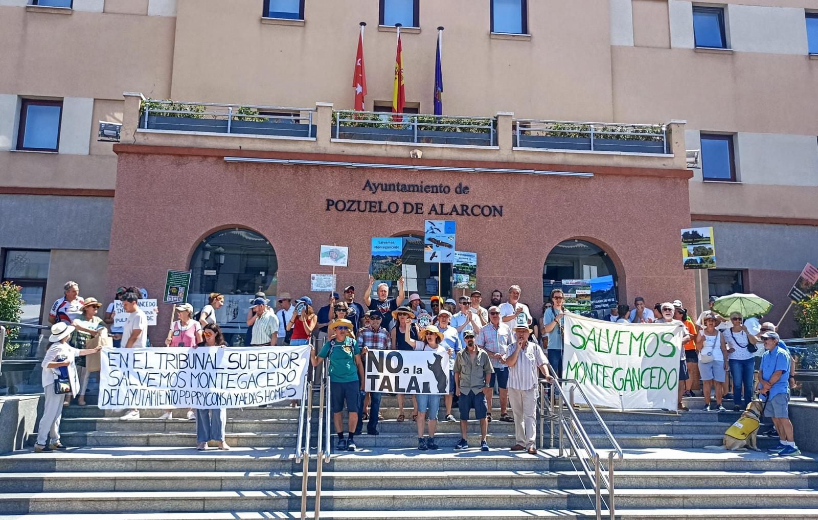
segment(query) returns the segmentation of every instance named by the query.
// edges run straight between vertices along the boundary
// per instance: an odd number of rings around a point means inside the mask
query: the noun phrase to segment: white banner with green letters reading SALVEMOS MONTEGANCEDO
[[[676,410],[685,332],[681,324],[611,323],[566,314],[563,377],[576,379],[596,406]]]

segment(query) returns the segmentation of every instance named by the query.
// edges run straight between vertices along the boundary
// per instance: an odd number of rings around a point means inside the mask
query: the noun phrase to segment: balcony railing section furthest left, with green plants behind
[[[142,101],[139,128],[281,137],[315,137],[315,109],[292,106],[222,105]]]

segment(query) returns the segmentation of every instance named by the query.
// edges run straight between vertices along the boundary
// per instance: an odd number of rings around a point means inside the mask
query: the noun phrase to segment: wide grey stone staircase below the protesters
[[[356,437],[359,451],[333,454],[325,464],[321,518],[596,518],[576,461],[556,450],[510,453],[514,427],[496,420],[492,451],[452,451],[459,424],[439,422],[442,449],[420,452],[411,406],[398,423],[394,401],[384,397],[379,436]],[[299,518],[301,465],[292,459],[298,410],[228,410],[233,449],[205,452],[193,449],[193,421],[159,420],[161,413],[143,410],[142,419],[121,421],[91,406],[66,409],[62,442],[77,447],[0,456],[0,520]],[[721,444],[736,412],[602,413],[625,451],[615,464],[617,518],[818,519],[815,456],[703,450]],[[587,412],[579,415],[605,450],[600,427]],[[477,446],[478,424],[469,431]],[[312,511],[312,479],[309,490]]]

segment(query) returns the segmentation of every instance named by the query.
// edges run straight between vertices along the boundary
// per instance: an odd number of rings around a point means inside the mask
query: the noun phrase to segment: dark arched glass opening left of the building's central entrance
[[[224,294],[216,321],[227,344],[240,344],[247,329],[250,299],[258,291],[268,298],[276,294],[278,260],[272,244],[249,229],[216,231],[196,246],[190,269],[191,294],[187,301],[198,311],[208,303],[210,293]]]

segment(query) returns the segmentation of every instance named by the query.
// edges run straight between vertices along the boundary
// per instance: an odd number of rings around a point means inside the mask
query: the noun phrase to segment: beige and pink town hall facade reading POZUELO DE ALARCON
[[[120,284],[155,294],[168,268],[194,270],[198,294],[308,293],[309,275],[324,272],[312,265],[318,244],[350,247],[338,283],[360,287],[371,236],[416,235],[424,218],[449,218],[448,206],[469,199],[469,213],[502,206],[502,216],[453,216],[458,240],[479,255],[483,294],[519,281],[534,304],[542,279],[613,271],[622,301],[673,295],[692,310],[709,294],[754,292],[775,303],[777,321],[798,272],[818,261],[816,12],[818,0],[0,0],[0,48],[10,51],[0,67],[11,71],[0,76],[2,274],[41,299],[29,320],[47,313],[65,280],[107,300]],[[401,23],[405,111],[432,111],[444,26],[444,113],[489,118],[488,146],[334,134],[333,109],[353,107],[361,21],[366,110],[391,110]],[[306,125],[309,135],[151,128],[141,98],[123,92],[213,111],[256,105],[258,119]],[[99,121],[124,123],[119,145],[97,140]],[[553,131],[554,121],[665,125],[666,148],[521,140],[546,136],[537,128]],[[411,116],[404,123],[410,130]],[[695,150],[694,168],[685,150]],[[299,160],[315,164],[282,162]],[[366,181],[470,193],[373,194]],[[327,210],[328,200],[380,201],[385,213]],[[403,213],[404,202],[425,204],[425,214]],[[429,204],[450,215],[429,215]],[[678,230],[691,225],[713,226],[717,269],[681,269]],[[218,251],[262,243],[233,267],[238,257]],[[582,248],[586,260],[573,262]],[[550,253],[559,257],[551,271]],[[228,271],[232,281],[218,282]],[[431,268],[425,280],[441,275]],[[235,299],[231,319],[245,308],[244,295]]]

